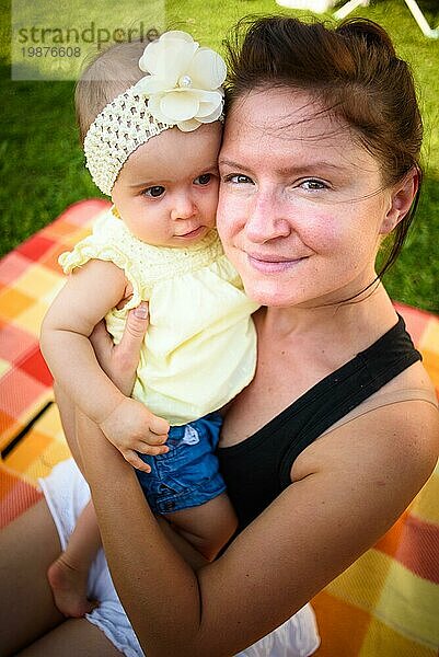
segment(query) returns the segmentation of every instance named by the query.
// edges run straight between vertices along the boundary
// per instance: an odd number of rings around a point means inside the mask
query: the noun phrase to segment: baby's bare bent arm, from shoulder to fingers
[[[89,341],[93,327],[125,298],[126,285],[113,263],[90,261],[76,269],[44,319],[42,350],[74,405],[131,465],[148,471],[136,451],[153,456],[167,451],[163,442],[169,424],[119,392],[100,368]]]

